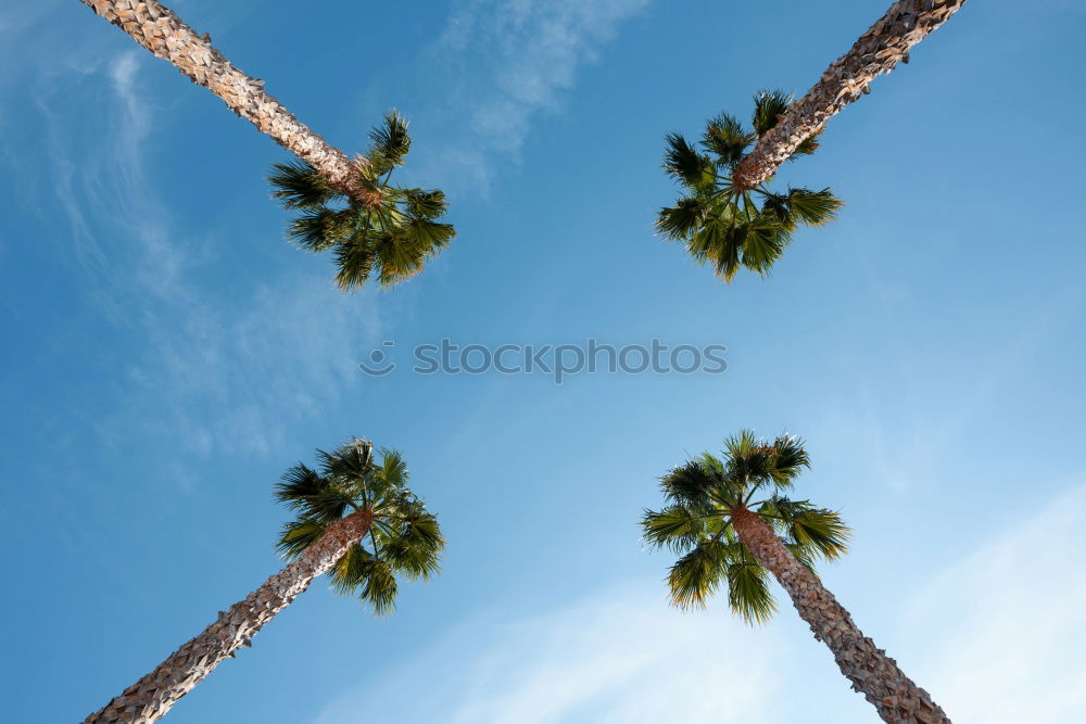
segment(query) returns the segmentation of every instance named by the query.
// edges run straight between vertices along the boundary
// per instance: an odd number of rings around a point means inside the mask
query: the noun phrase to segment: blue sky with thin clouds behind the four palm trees
[[[652,233],[664,134],[803,92],[882,5],[326,4],[171,7],[339,148],[411,117],[459,236],[392,292],[283,240],[285,153],[206,90],[79,3],[0,10],[7,719],[81,719],[275,572],[272,484],[358,434],[444,573],[381,620],[317,583],[171,721],[872,721],[786,601],[666,604],[635,521],[741,427],[807,440],[855,528],[826,584],[956,721],[1086,707],[1082,7],[967,5],[782,173],[841,219],[727,287]],[[356,368],[442,338],[729,369]]]

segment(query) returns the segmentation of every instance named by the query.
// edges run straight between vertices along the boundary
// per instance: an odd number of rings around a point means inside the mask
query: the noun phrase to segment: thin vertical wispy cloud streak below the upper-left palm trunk
[[[64,253],[75,250],[97,282],[94,299],[119,320],[134,299],[185,303],[192,294],[182,276],[197,252],[177,234],[144,169],[155,106],[140,69],[157,61],[139,49],[90,55],[87,63],[36,68],[34,100],[47,131],[49,181],[70,221],[71,239],[58,242]],[[73,123],[67,97],[96,84],[106,91],[101,117]]]

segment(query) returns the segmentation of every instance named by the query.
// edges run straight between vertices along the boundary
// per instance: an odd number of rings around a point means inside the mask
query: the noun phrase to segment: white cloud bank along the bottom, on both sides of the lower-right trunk
[[[1064,491],[921,581],[912,599],[886,601],[899,638],[917,643],[907,673],[955,721],[1059,724],[1086,709],[1086,485]],[[873,716],[798,622],[748,628],[722,601],[692,614],[662,599],[658,583],[633,583],[538,617],[485,611],[315,722],[358,712],[465,724]],[[870,618],[854,613],[861,625]],[[784,604],[778,615],[795,611]]]

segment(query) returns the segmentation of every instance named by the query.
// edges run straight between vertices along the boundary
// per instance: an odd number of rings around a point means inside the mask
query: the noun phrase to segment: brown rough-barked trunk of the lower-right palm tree
[[[815,638],[833,652],[837,666],[874,704],[884,722],[950,724],[924,689],[897,668],[886,652],[863,635],[848,611],[803,563],[784,547],[773,529],[746,508],[734,508],[732,525],[740,541],[759,563],[769,569],[792,597],[799,617],[810,624]]]

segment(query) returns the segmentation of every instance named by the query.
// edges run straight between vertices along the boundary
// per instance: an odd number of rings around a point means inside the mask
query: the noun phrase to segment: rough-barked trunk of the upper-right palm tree
[[[732,174],[733,186],[749,191],[775,174],[804,139],[867,93],[868,85],[894,69],[898,61],[908,63],[909,49],[946,23],[963,4],[965,0],[900,0],[891,5],[738,163]]]

